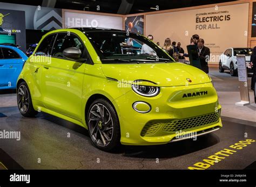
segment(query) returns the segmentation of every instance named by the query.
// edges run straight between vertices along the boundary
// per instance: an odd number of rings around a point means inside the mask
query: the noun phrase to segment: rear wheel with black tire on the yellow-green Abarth
[[[38,113],[34,110],[28,84],[22,82],[17,87],[17,104],[19,112],[24,117],[35,117]]]

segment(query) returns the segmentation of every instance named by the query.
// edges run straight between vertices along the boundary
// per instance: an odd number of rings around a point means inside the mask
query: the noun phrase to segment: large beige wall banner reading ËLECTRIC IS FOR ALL
[[[163,47],[166,38],[181,42],[186,50],[193,34],[198,34],[210,48],[210,62],[218,63],[219,55],[230,47],[247,47],[249,3],[212,8],[146,15],[146,35]]]

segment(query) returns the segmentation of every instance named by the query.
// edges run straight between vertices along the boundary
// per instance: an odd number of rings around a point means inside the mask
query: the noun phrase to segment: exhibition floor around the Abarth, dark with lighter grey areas
[[[240,101],[238,77],[219,73],[217,68],[211,68],[210,76],[223,107],[221,130],[199,136],[197,141],[123,146],[117,153],[105,153],[93,147],[87,131],[69,121],[46,113],[39,113],[36,118],[22,117],[16,94],[4,93],[0,95],[0,114],[6,117],[0,116],[0,130],[20,131],[21,140],[0,141],[0,163],[8,169],[188,169],[200,168],[199,162],[207,166],[203,160],[218,155],[207,169],[256,169],[256,142],[239,150],[230,148],[242,140],[256,140],[256,105],[253,102],[244,107],[234,105]],[[251,99],[252,95],[250,91]],[[232,152],[227,153],[226,149]],[[221,150],[226,152],[217,154]]]

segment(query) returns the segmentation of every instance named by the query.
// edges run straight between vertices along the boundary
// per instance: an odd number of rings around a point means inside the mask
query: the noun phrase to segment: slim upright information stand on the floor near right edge
[[[241,101],[235,103],[238,106],[245,106],[250,104],[248,82],[247,82],[247,68],[245,55],[237,55],[237,66],[238,66],[238,80]]]

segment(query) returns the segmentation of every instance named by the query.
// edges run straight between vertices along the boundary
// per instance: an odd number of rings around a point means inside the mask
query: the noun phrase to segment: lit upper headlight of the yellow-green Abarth
[[[139,95],[145,96],[145,97],[154,97],[157,96],[160,92],[159,87],[150,87],[145,85],[132,85],[132,90],[138,93]]]

